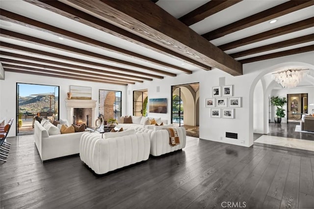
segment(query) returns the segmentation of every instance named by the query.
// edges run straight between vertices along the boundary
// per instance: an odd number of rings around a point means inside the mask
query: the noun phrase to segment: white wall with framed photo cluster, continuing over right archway
[[[167,114],[148,113],[151,117],[162,117],[171,121],[171,86],[186,83],[200,83],[200,138],[231,144],[251,146],[253,144],[254,90],[258,81],[271,71],[287,66],[302,66],[314,69],[313,52],[289,55],[243,65],[243,75],[232,76],[218,69],[197,71],[192,74],[180,74],[175,78],[154,79],[128,86],[127,113],[132,114],[132,91],[148,89],[149,98],[167,98]],[[235,118],[211,118],[210,108],[205,107],[205,99],[211,98],[211,88],[219,86],[219,78],[225,77],[225,85],[234,85],[234,96],[242,97],[242,107],[235,108]],[[160,92],[157,92],[157,87]],[[267,97],[265,97],[267,98]],[[265,119],[264,116],[261,120]],[[225,132],[238,134],[238,139],[225,138]],[[242,143],[241,143],[242,141]]]

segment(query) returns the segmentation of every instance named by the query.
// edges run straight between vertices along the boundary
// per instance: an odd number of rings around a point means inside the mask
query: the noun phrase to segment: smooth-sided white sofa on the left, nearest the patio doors
[[[83,133],[50,136],[37,120],[34,122],[34,140],[42,161],[78,154],[79,140]]]

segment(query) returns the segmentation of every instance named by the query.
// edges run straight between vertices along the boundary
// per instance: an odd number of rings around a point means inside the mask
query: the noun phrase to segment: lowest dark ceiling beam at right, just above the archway
[[[239,60],[239,62],[241,62],[242,64],[245,64],[245,63],[257,62],[261,60],[268,60],[268,59],[277,58],[277,57],[288,56],[292,54],[299,54],[299,53],[308,52],[308,51],[314,51],[314,45],[294,48],[294,49],[275,52],[271,54],[265,54],[265,55],[261,55],[257,57],[251,57],[251,58]]]

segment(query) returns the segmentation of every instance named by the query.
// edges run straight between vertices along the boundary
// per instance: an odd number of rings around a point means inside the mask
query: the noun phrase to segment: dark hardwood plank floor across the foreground
[[[188,138],[181,152],[97,176],[79,156],[42,163],[32,136],[8,141],[0,209],[314,208],[304,154]]]

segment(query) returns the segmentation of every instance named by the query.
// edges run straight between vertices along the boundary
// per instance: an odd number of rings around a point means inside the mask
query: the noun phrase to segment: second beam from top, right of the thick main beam
[[[303,9],[309,6],[314,5],[313,0],[289,0],[285,3],[274,6],[270,9],[266,9],[257,14],[246,17],[242,20],[230,23],[223,27],[217,28],[213,31],[203,34],[202,36],[207,40],[211,41],[220,37],[223,37],[227,34],[242,30],[244,28],[251,27],[253,25],[263,23],[265,21],[272,20],[284,16],[288,13]]]

